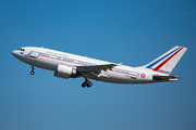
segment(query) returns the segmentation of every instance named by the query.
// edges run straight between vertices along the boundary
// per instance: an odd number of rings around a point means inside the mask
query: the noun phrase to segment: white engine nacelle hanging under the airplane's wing
[[[65,65],[58,65],[54,73],[56,77],[60,78],[75,78],[77,77],[76,68],[65,66]]]

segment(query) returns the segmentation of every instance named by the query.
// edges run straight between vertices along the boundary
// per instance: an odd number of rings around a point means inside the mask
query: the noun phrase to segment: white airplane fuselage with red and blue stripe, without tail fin
[[[77,66],[111,64],[110,62],[45,48],[25,47],[23,49],[25,51],[14,50],[12,54],[24,63],[53,72],[58,65],[65,65],[77,68]],[[99,76],[88,75],[88,78],[113,83],[150,83],[157,82],[152,78],[155,75],[167,76],[167,74],[154,72],[149,68],[130,67],[119,64],[112,69],[101,70]],[[86,75],[82,74],[78,77],[86,77]]]

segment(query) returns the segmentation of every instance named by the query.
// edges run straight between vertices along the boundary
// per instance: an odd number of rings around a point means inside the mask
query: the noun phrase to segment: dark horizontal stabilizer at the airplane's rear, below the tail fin
[[[179,76],[154,76],[154,80],[157,81],[176,81],[179,78]]]

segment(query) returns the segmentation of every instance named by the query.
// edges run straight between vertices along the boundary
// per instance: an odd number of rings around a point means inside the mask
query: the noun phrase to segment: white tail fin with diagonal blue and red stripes
[[[169,75],[186,50],[187,48],[176,46],[143,67]]]

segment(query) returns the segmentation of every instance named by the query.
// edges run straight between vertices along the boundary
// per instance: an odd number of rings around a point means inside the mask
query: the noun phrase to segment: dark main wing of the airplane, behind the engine
[[[77,66],[77,69],[82,73],[100,73],[101,70],[112,69],[117,64],[106,64],[106,65],[89,65],[89,66]]]

